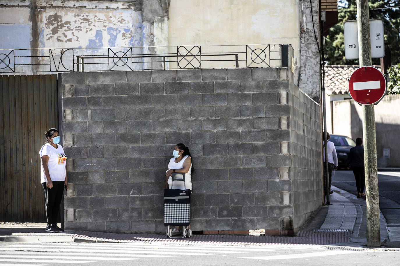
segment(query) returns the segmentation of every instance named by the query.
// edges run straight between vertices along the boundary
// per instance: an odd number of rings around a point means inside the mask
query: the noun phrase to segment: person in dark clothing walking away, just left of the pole
[[[364,147],[361,146],[362,138],[356,139],[356,146],[350,149],[347,158],[347,169],[351,169],[356,179],[357,197],[365,197],[365,171],[364,171]]]

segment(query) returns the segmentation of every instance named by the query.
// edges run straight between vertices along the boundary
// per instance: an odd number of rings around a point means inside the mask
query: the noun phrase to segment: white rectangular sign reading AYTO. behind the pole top
[[[357,20],[347,20],[344,29],[344,57],[346,59],[358,59],[358,26]],[[380,58],[385,55],[383,35],[383,21],[381,19],[370,20],[371,33],[371,57]]]

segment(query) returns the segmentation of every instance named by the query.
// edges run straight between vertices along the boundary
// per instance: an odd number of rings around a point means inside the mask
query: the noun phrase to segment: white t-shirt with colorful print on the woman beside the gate
[[[64,154],[64,149],[60,144],[57,144],[57,149],[51,146],[50,143],[46,143],[40,149],[40,158],[47,155],[49,161],[47,166],[49,168],[50,178],[52,181],[65,181],[66,175],[66,162],[67,156]],[[47,182],[46,176],[44,175],[43,166],[41,171],[40,183]]]

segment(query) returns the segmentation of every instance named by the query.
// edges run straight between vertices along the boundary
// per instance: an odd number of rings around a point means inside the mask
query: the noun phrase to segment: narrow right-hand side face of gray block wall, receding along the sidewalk
[[[293,229],[322,202],[320,105],[294,86],[290,90],[290,154]]]

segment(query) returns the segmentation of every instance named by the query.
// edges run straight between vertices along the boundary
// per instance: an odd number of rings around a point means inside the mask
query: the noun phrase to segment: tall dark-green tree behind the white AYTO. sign
[[[329,65],[358,65],[358,60],[347,60],[344,57],[343,23],[346,20],[356,20],[356,0],[338,1],[338,24],[330,28],[330,34],[325,38],[325,61]],[[385,45],[391,50],[392,64],[400,63],[400,10],[388,8],[400,6],[400,0],[369,0],[370,18],[383,20]],[[379,10],[373,10],[373,9]],[[372,64],[380,65],[379,58],[373,58]]]

